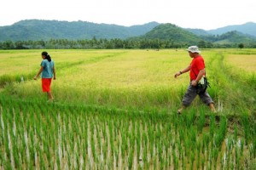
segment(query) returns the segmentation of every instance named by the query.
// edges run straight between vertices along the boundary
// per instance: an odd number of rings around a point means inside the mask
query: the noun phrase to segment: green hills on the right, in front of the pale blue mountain
[[[222,35],[212,35],[201,29],[183,29],[172,24],[161,24],[149,31],[141,39],[171,40],[175,43],[199,44],[212,42],[218,44],[255,43],[256,38],[247,36],[239,31],[228,31]]]

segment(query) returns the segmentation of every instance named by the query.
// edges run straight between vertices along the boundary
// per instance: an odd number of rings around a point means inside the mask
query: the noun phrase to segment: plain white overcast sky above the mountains
[[[256,23],[255,0],[4,0],[1,7],[0,26],[32,19],[119,26],[156,21],[204,30]]]

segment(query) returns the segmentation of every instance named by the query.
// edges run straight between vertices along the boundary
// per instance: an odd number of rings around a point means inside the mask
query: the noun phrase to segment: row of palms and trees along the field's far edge
[[[212,42],[201,41],[197,44],[189,42],[173,42],[173,40],[160,39],[50,39],[48,41],[4,41],[0,42],[0,49],[131,49],[131,48],[187,48],[189,45],[198,45],[200,48],[240,48],[242,43],[236,44],[215,44]],[[250,44],[245,48],[256,48],[256,44]]]

